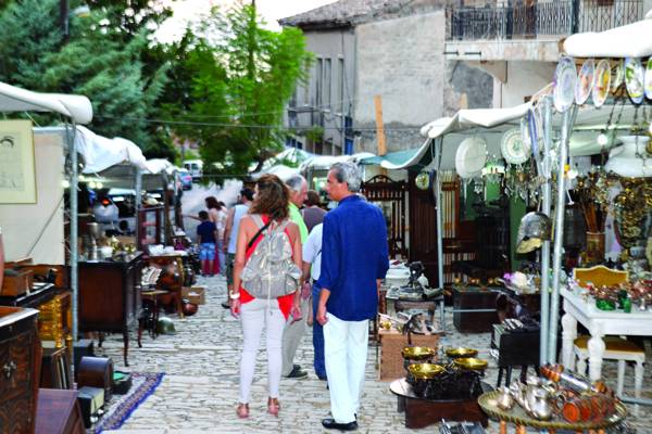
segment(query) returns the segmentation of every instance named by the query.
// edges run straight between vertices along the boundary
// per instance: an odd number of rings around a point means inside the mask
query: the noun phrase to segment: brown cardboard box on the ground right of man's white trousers
[[[408,346],[408,336],[396,330],[380,330],[380,366],[378,376],[380,381],[393,381],[405,376],[403,355],[401,352]],[[413,346],[427,346],[437,352],[439,334],[412,334]]]

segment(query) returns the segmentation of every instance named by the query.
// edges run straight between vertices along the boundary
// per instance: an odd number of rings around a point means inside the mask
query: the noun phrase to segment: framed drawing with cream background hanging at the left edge
[[[34,136],[29,120],[0,122],[0,203],[36,203]]]

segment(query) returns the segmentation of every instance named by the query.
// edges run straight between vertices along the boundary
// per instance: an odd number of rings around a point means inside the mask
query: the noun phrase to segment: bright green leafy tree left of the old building
[[[200,119],[185,135],[200,143],[204,168],[243,174],[281,148],[285,104],[306,78],[312,55],[301,30],[263,28],[255,9],[239,4],[214,10],[204,23],[209,37],[195,46],[190,62],[193,102]]]

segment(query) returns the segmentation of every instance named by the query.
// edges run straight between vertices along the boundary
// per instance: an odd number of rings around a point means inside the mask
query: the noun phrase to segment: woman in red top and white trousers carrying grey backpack
[[[298,316],[302,264],[301,235],[297,225],[288,219],[288,202],[289,192],[283,181],[274,175],[262,176],[255,184],[250,214],[242,217],[238,231],[229,297],[231,314],[240,316],[243,332],[237,407],[240,418],[249,417],[249,393],[263,329],[267,336],[267,411],[278,416],[280,407],[281,336],[290,315]],[[283,256],[278,254],[284,252],[289,264],[279,267]]]

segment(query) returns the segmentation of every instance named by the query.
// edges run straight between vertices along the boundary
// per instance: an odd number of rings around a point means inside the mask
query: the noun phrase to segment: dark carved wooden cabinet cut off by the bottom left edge
[[[40,379],[38,310],[0,307],[0,433],[33,433]]]

